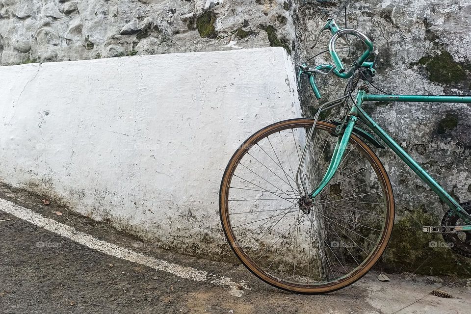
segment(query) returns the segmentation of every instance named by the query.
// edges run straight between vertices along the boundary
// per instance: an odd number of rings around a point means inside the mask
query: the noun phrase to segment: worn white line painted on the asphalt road
[[[157,271],[171,273],[184,279],[209,282],[217,286],[228,287],[231,290],[250,289],[244,282],[236,283],[230,277],[217,276],[207,271],[198,270],[193,267],[185,267],[171,262],[158,260],[151,256],[131,251],[130,249],[124,248],[122,246],[99,240],[91,235],[80,232],[71,226],[47,218],[35,211],[18,206],[15,203],[4,199],[0,199],[0,210],[20,219],[26,220],[27,222],[51,231],[57,235],[67,237],[91,249],[119,259],[145,265],[154,268]],[[241,295],[241,293],[234,294],[239,296]]]

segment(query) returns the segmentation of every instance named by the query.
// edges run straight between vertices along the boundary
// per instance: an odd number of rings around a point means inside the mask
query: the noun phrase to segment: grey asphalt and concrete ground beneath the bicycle
[[[0,198],[54,219],[100,243],[161,261],[193,267],[217,280],[185,279],[175,266],[157,270],[79,244],[7,213],[0,207],[0,313],[470,313],[471,280],[370,271],[354,285],[325,295],[296,295],[265,285],[244,267],[177,255],[59,208],[40,198],[0,188]],[[7,204],[7,205],[5,205]],[[6,211],[6,212],[5,212]],[[59,211],[62,215],[55,213]],[[103,242],[106,241],[106,242]],[[87,246],[88,245],[88,246]],[[164,267],[165,268],[165,267]],[[177,269],[177,271],[175,271]],[[186,268],[185,268],[186,269]],[[197,272],[197,273],[201,273]],[[212,276],[212,277],[211,277]],[[232,286],[231,286],[232,285]],[[245,285],[245,286],[244,286]],[[443,287],[442,287],[443,286]],[[452,294],[431,295],[440,288]]]

